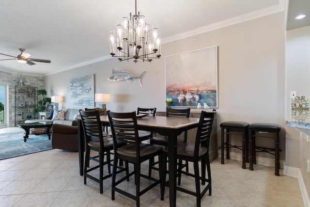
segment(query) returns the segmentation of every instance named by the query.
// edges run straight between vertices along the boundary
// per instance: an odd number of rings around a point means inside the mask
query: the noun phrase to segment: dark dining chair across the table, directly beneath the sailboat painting
[[[166,116],[169,117],[184,117],[188,118],[190,113],[190,108],[187,109],[167,109]],[[184,136],[178,137],[178,142],[187,142],[187,130],[184,131]],[[166,136],[152,136],[150,138],[150,144],[157,144],[167,147],[168,146],[168,137]],[[154,160],[150,160],[149,163],[149,176],[152,174],[153,170],[158,170],[158,168],[155,167],[155,165],[158,164],[158,162]],[[182,167],[186,167],[186,172],[188,172],[188,162],[185,163],[185,165],[182,165]]]

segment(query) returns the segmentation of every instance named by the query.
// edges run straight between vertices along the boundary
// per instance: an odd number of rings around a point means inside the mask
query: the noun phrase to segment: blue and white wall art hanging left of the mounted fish
[[[94,107],[93,74],[70,79],[71,107]]]

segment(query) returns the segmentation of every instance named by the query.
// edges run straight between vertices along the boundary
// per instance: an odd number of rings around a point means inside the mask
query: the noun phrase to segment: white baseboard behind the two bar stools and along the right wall
[[[218,157],[221,158],[221,151],[218,150]],[[242,154],[230,152],[229,153],[230,159],[240,160],[242,161]],[[225,159],[226,159],[226,152],[225,152]],[[264,157],[256,157],[256,163],[266,166],[275,166],[275,160],[271,158],[264,158]],[[304,202],[305,207],[310,207],[310,199],[308,196],[308,192],[305,186],[304,179],[301,175],[299,168],[289,167],[285,165],[285,161],[280,159],[280,166],[284,166],[283,174],[293,177],[298,177],[299,188],[301,191],[302,199]]]

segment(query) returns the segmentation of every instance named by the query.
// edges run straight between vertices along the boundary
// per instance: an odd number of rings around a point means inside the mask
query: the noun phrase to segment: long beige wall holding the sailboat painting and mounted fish
[[[282,126],[284,139],[284,19],[284,12],[280,12],[196,35],[197,40],[188,37],[166,43],[161,48],[162,58],[152,63],[118,62],[113,58],[50,75],[44,78],[44,87],[50,91],[49,96],[65,96],[63,107],[70,108],[70,78],[95,74],[95,93],[111,94],[108,110],[133,111],[139,106],[164,111],[165,56],[218,46],[217,131],[219,124],[228,120],[269,122]],[[136,75],[147,71],[142,77],[143,88],[138,80],[129,84],[126,81],[102,82],[109,78],[112,68]],[[219,145],[220,133],[217,137]],[[285,159],[284,143],[280,142],[280,159]]]

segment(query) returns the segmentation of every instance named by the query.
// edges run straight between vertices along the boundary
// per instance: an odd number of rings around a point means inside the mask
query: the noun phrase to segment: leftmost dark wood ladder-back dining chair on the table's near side
[[[82,120],[82,126],[85,137],[85,165],[84,165],[84,184],[86,184],[86,178],[90,178],[100,185],[100,193],[103,193],[103,180],[112,176],[111,174],[111,159],[110,151],[113,150],[113,140],[111,137],[103,136],[102,125],[100,122],[99,111],[82,111],[79,110]],[[126,143],[117,142],[117,145],[123,146]],[[99,153],[98,156],[91,157],[91,150]],[[104,161],[106,156],[106,161]],[[99,164],[90,167],[90,160],[98,162]],[[108,175],[103,175],[104,165],[108,165]],[[99,168],[99,178],[94,177],[90,173]],[[121,168],[117,173],[123,172],[125,169]],[[128,169],[126,171],[128,174]]]

